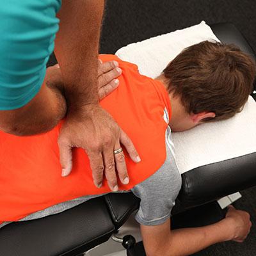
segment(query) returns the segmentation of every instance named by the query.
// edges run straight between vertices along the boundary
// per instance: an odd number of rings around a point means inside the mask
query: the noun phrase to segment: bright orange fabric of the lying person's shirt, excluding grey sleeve
[[[168,92],[163,84],[141,76],[138,67],[113,55],[122,68],[118,88],[102,99],[100,105],[127,133],[141,157],[134,163],[124,149],[130,182],[119,182],[128,190],[154,174],[166,159],[164,108],[171,113]],[[170,116],[169,116],[170,120]],[[73,168],[61,177],[58,134],[61,121],[44,134],[19,137],[0,131],[0,223],[17,221],[29,214],[85,195],[111,192],[104,180],[102,188],[93,184],[88,156],[81,148],[73,150]]]

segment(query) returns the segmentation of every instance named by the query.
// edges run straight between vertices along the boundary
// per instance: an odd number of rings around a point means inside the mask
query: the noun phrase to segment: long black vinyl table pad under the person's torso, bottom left
[[[0,229],[0,256],[71,256],[109,239],[115,227],[103,197]]]

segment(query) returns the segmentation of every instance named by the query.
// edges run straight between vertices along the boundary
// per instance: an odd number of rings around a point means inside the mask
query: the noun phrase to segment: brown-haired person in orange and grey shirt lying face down
[[[130,182],[119,182],[119,191],[131,190],[141,199],[135,218],[147,255],[190,255],[221,241],[242,242],[250,232],[250,216],[234,207],[214,225],[171,231],[170,213],[181,186],[171,129],[185,131],[239,113],[253,89],[254,61],[234,45],[202,42],[182,51],[163,74],[151,79],[116,56],[100,59],[115,60],[122,68],[118,88],[100,104],[141,156],[138,164],[125,158]],[[61,177],[57,141],[61,125],[28,137],[0,132],[4,159],[0,161],[0,227],[56,214],[111,192],[106,180],[95,188],[81,148],[74,149],[71,174]]]

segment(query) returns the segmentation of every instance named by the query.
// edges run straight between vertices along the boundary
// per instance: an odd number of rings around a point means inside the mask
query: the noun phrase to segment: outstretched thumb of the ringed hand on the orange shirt
[[[72,170],[72,147],[66,143],[58,143],[60,150],[61,176],[68,176]]]

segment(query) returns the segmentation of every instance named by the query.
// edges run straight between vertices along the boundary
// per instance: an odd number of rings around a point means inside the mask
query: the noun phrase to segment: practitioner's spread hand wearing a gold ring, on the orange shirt
[[[72,115],[68,113],[58,140],[62,175],[67,176],[72,170],[72,148],[81,147],[90,159],[95,186],[99,188],[102,185],[105,175],[109,188],[117,191],[115,167],[121,182],[129,183],[124,152],[113,154],[114,150],[121,148],[121,143],[132,160],[139,162],[140,157],[132,141],[98,104],[84,106],[83,111]]]

